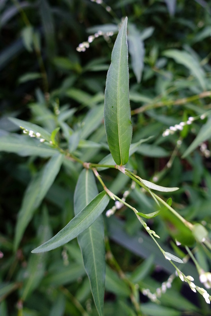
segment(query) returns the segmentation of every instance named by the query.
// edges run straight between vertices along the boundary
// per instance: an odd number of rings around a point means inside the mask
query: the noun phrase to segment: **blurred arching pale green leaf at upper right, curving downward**
[[[191,54],[186,51],[169,49],[164,52],[164,55],[173,58],[178,64],[188,68],[193,76],[199,81],[203,90],[206,90],[205,72],[201,68],[198,60],[196,60]]]

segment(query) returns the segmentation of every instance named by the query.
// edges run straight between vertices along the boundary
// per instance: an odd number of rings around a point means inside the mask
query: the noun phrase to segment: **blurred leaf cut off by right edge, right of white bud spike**
[[[209,118],[208,121],[202,126],[194,141],[182,155],[182,158],[186,158],[194,151],[194,149],[196,149],[201,143],[205,142],[209,138],[211,138],[211,118]]]

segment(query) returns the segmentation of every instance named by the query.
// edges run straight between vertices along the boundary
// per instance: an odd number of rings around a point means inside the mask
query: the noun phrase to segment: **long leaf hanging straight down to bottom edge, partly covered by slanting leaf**
[[[84,169],[75,190],[74,210],[77,215],[98,194],[91,170]],[[91,292],[100,316],[103,316],[105,288],[105,242],[102,215],[78,237],[85,271],[90,280]]]

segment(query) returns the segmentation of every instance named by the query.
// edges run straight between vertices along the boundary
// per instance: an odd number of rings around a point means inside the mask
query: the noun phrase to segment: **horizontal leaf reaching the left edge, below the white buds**
[[[58,153],[54,148],[40,143],[28,135],[9,134],[0,137],[0,151],[19,156],[50,157]]]

